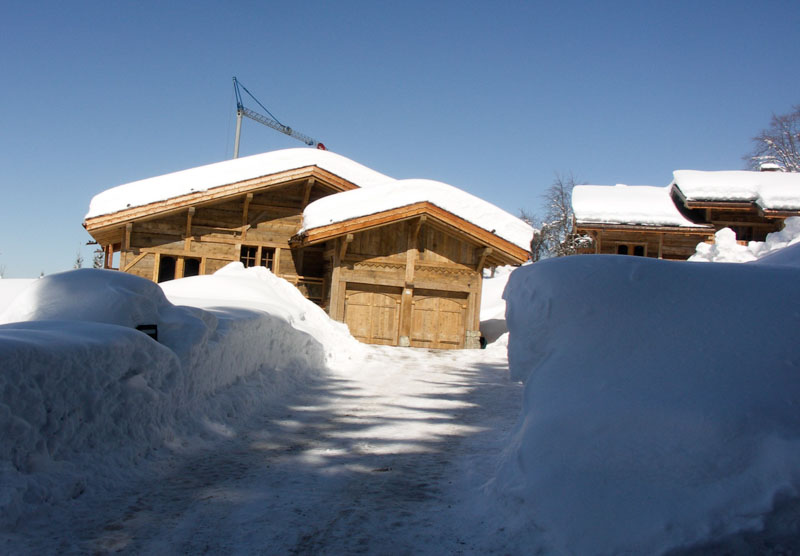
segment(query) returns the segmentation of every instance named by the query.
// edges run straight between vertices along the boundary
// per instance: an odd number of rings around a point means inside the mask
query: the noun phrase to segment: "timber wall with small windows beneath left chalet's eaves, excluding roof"
[[[271,252],[273,272],[321,302],[322,248],[289,249],[289,239],[302,224],[305,205],[332,193],[327,187],[312,185],[303,180],[137,220],[122,232],[120,269],[154,281],[188,276],[194,273],[192,269],[212,274],[239,261],[244,245],[257,249],[256,265],[262,254]]]

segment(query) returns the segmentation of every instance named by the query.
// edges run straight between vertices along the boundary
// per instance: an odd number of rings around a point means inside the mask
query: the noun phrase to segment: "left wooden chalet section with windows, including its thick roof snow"
[[[322,252],[293,250],[316,199],[390,180],[328,151],[288,149],[122,185],[97,195],[84,227],[105,268],[156,282],[265,266],[322,302]]]

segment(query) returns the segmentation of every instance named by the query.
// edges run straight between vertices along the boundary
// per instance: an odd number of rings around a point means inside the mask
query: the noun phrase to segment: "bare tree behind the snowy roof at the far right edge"
[[[753,137],[755,147],[744,157],[758,170],[762,164],[777,164],[786,172],[800,172],[800,104],[792,112],[772,115],[767,129]]]

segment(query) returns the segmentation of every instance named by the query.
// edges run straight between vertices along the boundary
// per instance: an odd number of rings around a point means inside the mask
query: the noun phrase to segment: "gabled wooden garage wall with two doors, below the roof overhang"
[[[479,347],[480,249],[419,218],[329,241],[329,313],[367,343]]]

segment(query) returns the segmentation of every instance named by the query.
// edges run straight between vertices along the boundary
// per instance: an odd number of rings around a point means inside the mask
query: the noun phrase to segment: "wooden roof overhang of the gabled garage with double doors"
[[[488,261],[495,264],[522,264],[528,260],[529,253],[522,247],[427,201],[306,230],[295,235],[291,244],[295,247],[315,245],[347,234],[363,232],[423,215],[427,217],[426,225],[440,228],[478,246],[490,247],[492,251],[487,257]]]

